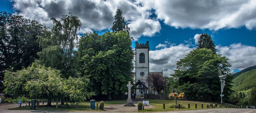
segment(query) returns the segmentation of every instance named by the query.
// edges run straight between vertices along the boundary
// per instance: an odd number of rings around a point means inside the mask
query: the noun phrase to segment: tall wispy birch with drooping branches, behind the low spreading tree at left
[[[37,63],[61,70],[61,77],[79,77],[79,54],[75,49],[77,31],[81,21],[72,14],[63,15],[60,20],[51,18],[55,24],[46,37],[38,36],[42,51],[38,52]]]

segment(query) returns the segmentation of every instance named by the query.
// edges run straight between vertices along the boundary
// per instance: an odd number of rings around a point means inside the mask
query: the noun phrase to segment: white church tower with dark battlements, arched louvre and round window
[[[142,83],[148,87],[148,83],[146,79],[149,74],[149,46],[148,41],[147,43],[138,44],[135,42],[135,51],[136,51],[136,58],[135,58],[135,80],[136,83],[140,80]],[[136,96],[144,96],[144,94],[148,94],[148,90],[145,92],[144,89],[137,89]]]

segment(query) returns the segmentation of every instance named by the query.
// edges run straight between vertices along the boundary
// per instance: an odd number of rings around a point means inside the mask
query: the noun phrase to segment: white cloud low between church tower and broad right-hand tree
[[[160,50],[150,50],[149,70],[161,71],[163,69],[164,75],[173,74],[177,61],[185,57],[192,49],[184,44],[179,44],[177,46],[164,47]]]

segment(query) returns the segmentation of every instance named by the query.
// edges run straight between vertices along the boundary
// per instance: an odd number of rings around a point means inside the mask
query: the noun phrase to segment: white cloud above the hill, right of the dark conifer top
[[[256,47],[243,45],[241,43],[222,47],[216,46],[218,52],[229,59],[231,69],[245,69],[256,65]]]

